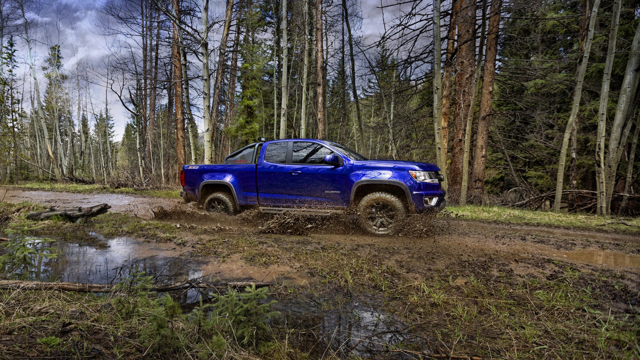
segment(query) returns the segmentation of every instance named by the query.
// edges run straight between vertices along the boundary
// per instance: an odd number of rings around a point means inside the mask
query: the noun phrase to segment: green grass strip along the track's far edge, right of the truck
[[[640,232],[640,217],[625,218],[625,224],[608,224],[621,221],[620,217],[597,216],[593,214],[569,214],[566,212],[534,211],[498,206],[447,206],[453,214],[461,215],[463,220],[486,223],[520,224],[549,226],[553,228],[573,228],[591,231],[616,231],[627,233]]]

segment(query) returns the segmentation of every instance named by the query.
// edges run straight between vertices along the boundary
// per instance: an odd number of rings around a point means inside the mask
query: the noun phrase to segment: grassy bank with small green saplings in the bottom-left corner
[[[115,292],[0,290],[0,357],[92,359],[306,359],[276,329],[268,288],[214,295],[185,312],[148,293],[150,277]],[[282,331],[278,331],[282,330]]]

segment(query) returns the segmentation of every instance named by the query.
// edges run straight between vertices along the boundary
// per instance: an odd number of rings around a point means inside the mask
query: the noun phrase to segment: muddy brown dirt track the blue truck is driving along
[[[282,235],[303,233],[305,237],[289,235],[294,242],[315,240],[317,244],[349,244],[365,246],[369,253],[387,256],[387,260],[417,276],[425,276],[437,267],[468,268],[474,262],[501,263],[515,274],[540,274],[550,260],[564,260],[582,268],[607,267],[640,273],[640,237],[618,233],[599,233],[539,226],[510,226],[475,223],[459,219],[424,219],[415,217],[395,237],[365,235],[344,217],[310,221],[273,218],[248,211],[236,217],[209,215],[195,204],[182,200],[131,196],[124,194],[76,194],[49,191],[10,190],[5,201],[34,201],[44,205],[87,206],[109,203],[112,212],[123,212],[143,219],[156,219],[175,224],[211,226],[220,224],[223,232],[237,233],[262,227],[264,237],[287,241]],[[164,209],[164,210],[163,210]],[[170,209],[170,210],[166,210]],[[284,223],[284,225],[283,225]],[[287,230],[293,228],[293,231]],[[289,232],[287,232],[289,231]]]

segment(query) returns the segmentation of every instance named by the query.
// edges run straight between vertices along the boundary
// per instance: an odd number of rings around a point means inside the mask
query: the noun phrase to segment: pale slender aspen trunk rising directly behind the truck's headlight
[[[433,134],[436,145],[436,159],[442,173],[447,172],[442,153],[442,44],[440,40],[440,0],[433,0]],[[444,184],[443,188],[446,190]]]

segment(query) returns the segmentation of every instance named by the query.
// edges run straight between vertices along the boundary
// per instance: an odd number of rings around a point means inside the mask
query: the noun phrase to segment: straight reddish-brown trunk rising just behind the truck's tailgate
[[[172,0],[173,16],[180,19],[179,0]],[[186,153],[184,150],[184,93],[182,86],[182,63],[180,61],[180,36],[178,35],[178,27],[180,24],[173,22],[173,91],[175,96],[175,164],[176,173],[175,181],[180,181],[180,170],[186,162]]]

